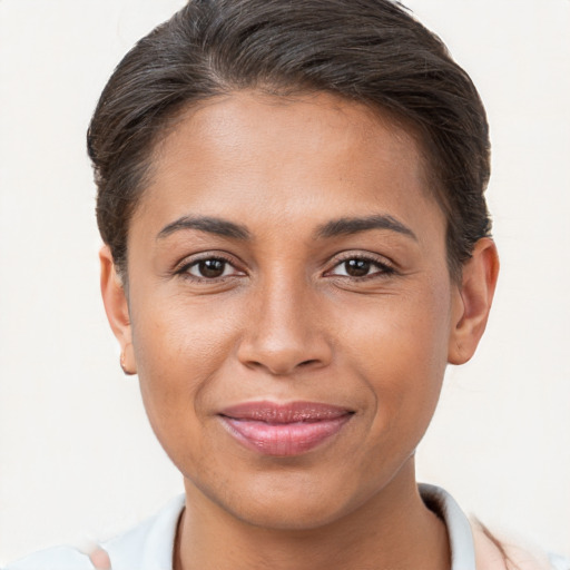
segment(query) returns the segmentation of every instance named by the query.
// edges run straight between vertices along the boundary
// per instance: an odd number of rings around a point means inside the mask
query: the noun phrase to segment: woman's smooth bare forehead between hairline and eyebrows
[[[317,224],[309,203],[345,215],[365,214],[375,199],[376,209],[433,207],[428,188],[413,129],[387,112],[328,94],[242,91],[177,118],[155,149],[140,210],[158,208],[166,219],[185,207],[226,217],[274,207],[271,215],[305,213]]]

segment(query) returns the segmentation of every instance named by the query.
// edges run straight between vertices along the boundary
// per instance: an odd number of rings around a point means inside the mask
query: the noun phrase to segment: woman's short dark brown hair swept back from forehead
[[[325,91],[387,112],[419,134],[461,275],[491,223],[489,127],[479,94],[443,42],[390,0],[190,0],[125,56],[88,130],[97,222],[126,276],[130,218],[153,151],[193,105],[237,90]]]

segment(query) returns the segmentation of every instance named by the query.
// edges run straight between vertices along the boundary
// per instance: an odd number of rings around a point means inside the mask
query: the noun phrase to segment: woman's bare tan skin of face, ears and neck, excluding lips
[[[153,173],[129,227],[128,297],[107,247],[101,288],[185,478],[175,568],[449,568],[414,450],[446,364],[475,351],[498,259],[484,238],[462,282],[450,278],[445,219],[413,135],[332,95],[237,92],[190,109]],[[189,216],[248,238],[175,224]],[[324,235],[371,216],[405,229]],[[198,261],[216,257],[223,275],[200,276]],[[348,259],[367,263],[362,276]],[[354,413],[317,448],[268,456],[219,419],[262,400]]]

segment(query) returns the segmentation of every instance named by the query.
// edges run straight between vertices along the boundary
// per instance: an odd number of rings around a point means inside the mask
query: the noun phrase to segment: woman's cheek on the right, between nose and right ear
[[[347,365],[373,401],[381,439],[421,438],[438,403],[446,366],[450,289],[445,283],[372,299],[344,318]]]

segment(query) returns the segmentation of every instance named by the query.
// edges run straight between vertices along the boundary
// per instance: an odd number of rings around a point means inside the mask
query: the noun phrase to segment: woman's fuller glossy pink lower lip
[[[264,455],[305,453],[336,435],[351,414],[315,422],[267,423],[222,416],[229,433],[246,448]]]

